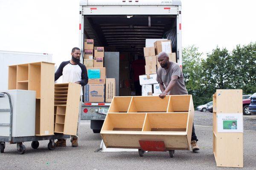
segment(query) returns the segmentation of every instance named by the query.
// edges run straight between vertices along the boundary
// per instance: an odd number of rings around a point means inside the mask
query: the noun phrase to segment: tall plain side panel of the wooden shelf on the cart
[[[41,63],[40,134],[54,134],[54,64]]]

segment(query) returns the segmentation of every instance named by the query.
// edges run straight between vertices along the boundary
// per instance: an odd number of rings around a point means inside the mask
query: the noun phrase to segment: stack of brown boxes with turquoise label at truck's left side
[[[93,40],[85,39],[84,65],[87,68],[89,80],[84,86],[84,102],[111,102],[115,96],[115,79],[106,78],[106,68],[103,62],[104,47],[94,47]]]

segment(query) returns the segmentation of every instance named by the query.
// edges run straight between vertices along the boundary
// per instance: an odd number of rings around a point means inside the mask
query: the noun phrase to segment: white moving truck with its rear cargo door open
[[[129,81],[122,80],[123,69],[143,56],[146,39],[171,40],[182,68],[180,0],[81,0],[79,14],[79,46],[83,51],[84,40],[93,39],[94,46],[105,47],[106,77],[116,79],[117,96],[131,95]],[[93,132],[99,133],[105,119],[99,112],[109,105],[84,102],[81,120],[90,120]]]

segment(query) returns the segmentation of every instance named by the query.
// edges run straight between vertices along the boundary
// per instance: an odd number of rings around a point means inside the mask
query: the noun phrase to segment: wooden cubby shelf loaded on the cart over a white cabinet
[[[36,92],[35,134],[53,135],[54,63],[38,62],[9,66],[8,89]]]

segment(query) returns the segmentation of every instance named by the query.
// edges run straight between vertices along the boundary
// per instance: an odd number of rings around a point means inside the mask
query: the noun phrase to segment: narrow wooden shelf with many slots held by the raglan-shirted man
[[[55,133],[76,135],[80,94],[80,84],[55,84]]]

